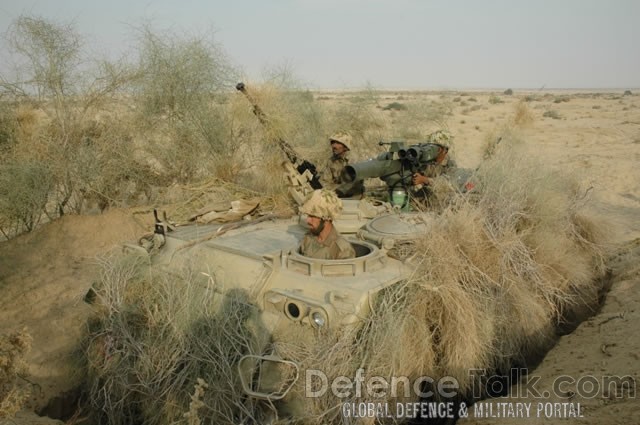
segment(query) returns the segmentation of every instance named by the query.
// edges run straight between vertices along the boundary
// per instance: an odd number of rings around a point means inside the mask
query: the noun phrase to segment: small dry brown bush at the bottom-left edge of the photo
[[[31,340],[26,330],[0,335],[0,419],[9,422],[31,394],[24,379],[28,375],[24,356],[31,349]]]

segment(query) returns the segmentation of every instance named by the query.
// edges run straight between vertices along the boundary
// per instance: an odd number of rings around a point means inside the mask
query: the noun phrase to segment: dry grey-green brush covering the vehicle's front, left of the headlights
[[[193,410],[196,384],[207,386],[199,393],[204,422],[238,423],[255,413],[235,375],[239,356],[258,349],[248,295],[223,299],[214,290],[218,282],[188,267],[149,274],[140,257],[101,262],[85,347],[97,421],[175,423]]]

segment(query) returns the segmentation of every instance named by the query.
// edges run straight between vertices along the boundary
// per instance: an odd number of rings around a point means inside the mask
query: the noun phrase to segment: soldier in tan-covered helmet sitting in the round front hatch
[[[307,215],[309,232],[304,236],[300,253],[307,257],[323,260],[354,258],[353,246],[338,233],[333,220],[342,211],[342,201],[336,193],[328,189],[315,190],[300,207]]]

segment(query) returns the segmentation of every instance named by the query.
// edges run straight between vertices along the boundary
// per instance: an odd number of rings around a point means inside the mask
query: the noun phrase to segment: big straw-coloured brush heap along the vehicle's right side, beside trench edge
[[[584,193],[505,151],[499,146],[481,166],[477,206],[447,210],[419,249],[425,257],[415,281],[432,290],[411,299],[439,312],[436,358],[463,386],[470,385],[469,364],[494,371],[527,364],[529,350],[551,342],[567,309],[597,302],[593,282],[603,273],[601,246],[594,244],[602,234],[591,234],[579,216]],[[580,299],[583,293],[590,297]]]

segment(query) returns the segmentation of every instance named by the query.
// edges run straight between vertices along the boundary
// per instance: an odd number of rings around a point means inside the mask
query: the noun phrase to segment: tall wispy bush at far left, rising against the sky
[[[55,204],[49,209],[50,218],[54,212],[79,212],[86,193],[86,182],[79,176],[97,171],[95,161],[88,161],[99,156],[92,151],[91,141],[104,130],[94,117],[106,100],[131,81],[133,73],[122,63],[101,61],[91,68],[82,57],[82,39],[71,24],[21,16],[11,26],[9,39],[22,72],[16,81],[2,78],[5,91],[20,99],[15,105],[15,157],[25,163],[48,164],[44,189],[52,192],[49,200]],[[83,172],[83,168],[90,170]]]

